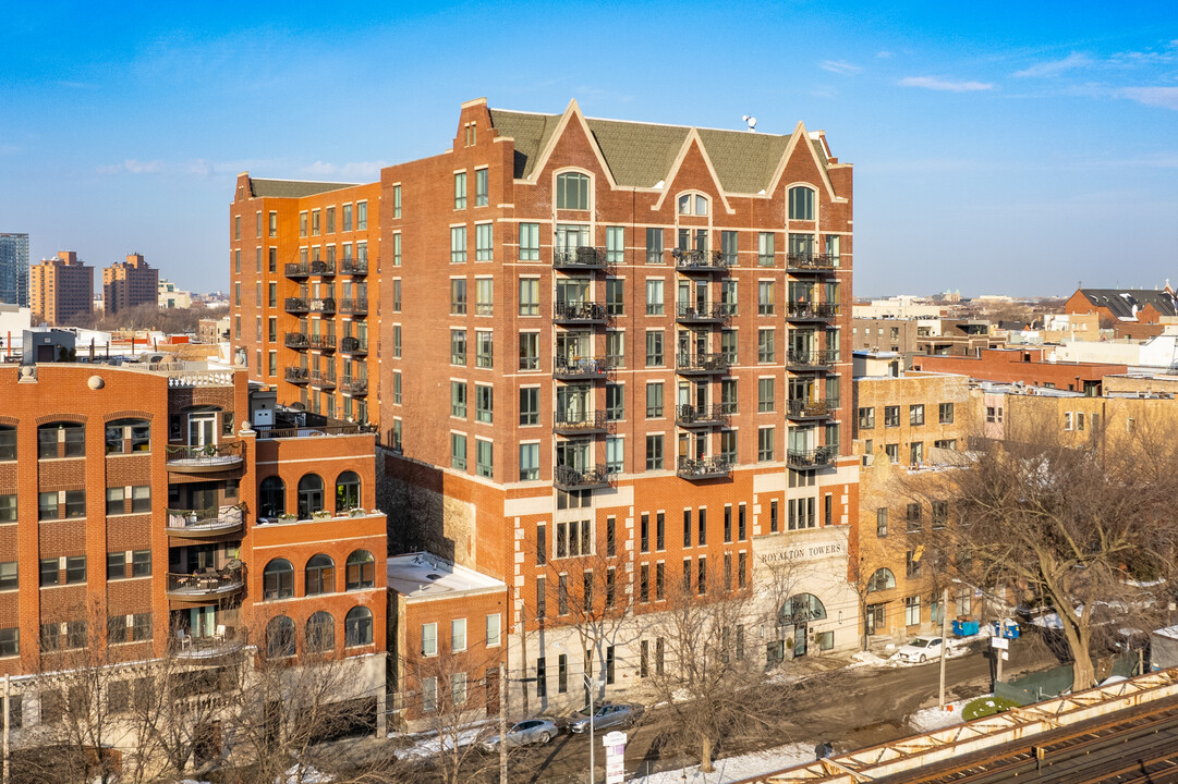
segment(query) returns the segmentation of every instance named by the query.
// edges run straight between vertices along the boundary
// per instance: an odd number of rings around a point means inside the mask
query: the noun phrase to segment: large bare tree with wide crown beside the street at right
[[[1139,421],[1125,432],[1101,421],[1076,439],[1048,404],[1051,413],[1038,414],[1028,401],[1024,417],[1008,406],[1004,441],[977,439],[967,467],[925,489],[951,511],[925,545],[966,580],[1050,604],[1074,663],[1073,687],[1085,689],[1101,622],[1117,616],[1125,626],[1166,604],[1147,584],[1176,570],[1178,464],[1169,424]]]

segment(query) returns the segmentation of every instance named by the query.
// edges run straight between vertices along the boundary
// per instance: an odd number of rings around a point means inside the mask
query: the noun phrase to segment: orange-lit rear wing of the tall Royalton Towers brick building
[[[284,403],[349,421],[377,417],[379,204],[378,182],[238,175],[230,339],[250,378]],[[396,246],[388,258],[397,264]]]

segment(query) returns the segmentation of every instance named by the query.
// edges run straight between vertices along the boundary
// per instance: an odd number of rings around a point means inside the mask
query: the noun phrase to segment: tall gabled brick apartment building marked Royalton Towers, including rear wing
[[[232,339],[280,401],[338,410],[317,390],[338,365],[315,335],[355,337],[364,319],[311,303],[355,279],[338,248],[335,275],[323,268],[344,239],[343,206],[362,202],[366,226],[346,239],[372,248],[368,320],[380,286],[379,411],[369,394],[364,416],[393,450],[393,525],[431,527],[432,539],[415,536],[436,542],[435,556],[505,584],[510,699],[583,700],[562,687],[587,666],[568,653],[568,583],[624,591],[649,618],[668,606],[666,580],[744,584],[757,564],[796,557],[809,577],[789,606],[805,610],[767,642],[783,650],[788,637],[795,656],[856,644],[852,167],[822,132],[479,99],[462,106],[448,151],[384,168],[376,184],[241,174]],[[418,625],[445,629],[449,612]],[[633,639],[603,669],[633,684],[656,649]]]

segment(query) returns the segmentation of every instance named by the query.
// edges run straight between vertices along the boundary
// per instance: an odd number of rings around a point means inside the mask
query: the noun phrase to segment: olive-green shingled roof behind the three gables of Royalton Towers
[[[501,137],[515,140],[515,175],[531,174],[541,152],[561,122],[561,114],[536,114],[489,109]],[[667,178],[689,126],[628,122],[587,118],[614,180],[626,187],[653,187]],[[728,193],[757,193],[768,188],[773,173],[789,145],[789,134],[749,133],[697,128],[703,147]],[[825,160],[820,141],[814,141],[819,160]]]

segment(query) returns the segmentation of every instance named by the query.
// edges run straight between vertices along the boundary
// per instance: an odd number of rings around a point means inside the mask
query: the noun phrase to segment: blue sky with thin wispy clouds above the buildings
[[[1178,285],[1172,2],[172,5],[6,8],[0,231],[34,258],[225,288],[237,172],[371,181],[485,95],[825,128],[860,295]]]

